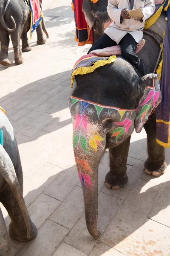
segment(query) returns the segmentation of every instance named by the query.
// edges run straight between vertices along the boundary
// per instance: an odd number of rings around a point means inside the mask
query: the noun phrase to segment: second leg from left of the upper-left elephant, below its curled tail
[[[14,60],[15,60],[15,64],[17,65],[20,65],[24,62],[24,59],[22,57],[21,47],[20,47],[20,39],[21,39],[21,35],[17,29],[11,33],[11,41],[14,49]]]

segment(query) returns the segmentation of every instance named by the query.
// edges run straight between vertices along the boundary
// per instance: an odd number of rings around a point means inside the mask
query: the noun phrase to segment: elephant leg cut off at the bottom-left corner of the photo
[[[0,256],[13,256],[3,213],[0,209]]]

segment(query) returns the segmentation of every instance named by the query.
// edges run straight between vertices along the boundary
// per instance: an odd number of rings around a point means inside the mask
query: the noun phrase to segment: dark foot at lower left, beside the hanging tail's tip
[[[27,231],[25,228],[23,228],[23,230],[18,230],[18,228],[14,228],[12,223],[10,223],[9,225],[9,234],[10,236],[17,240],[17,241],[21,241],[21,242],[25,242],[25,241],[31,241],[34,238],[36,238],[37,236],[37,227],[34,225],[34,223],[31,221],[31,236],[30,239],[27,238]]]

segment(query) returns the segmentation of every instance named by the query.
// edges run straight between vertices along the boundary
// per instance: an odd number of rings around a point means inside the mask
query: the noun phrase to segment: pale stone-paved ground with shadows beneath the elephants
[[[17,256],[170,256],[170,166],[153,178],[144,174],[146,134],[133,134],[125,188],[109,190],[99,168],[99,230],[96,241],[85,226],[82,189],[72,150],[68,109],[70,74],[90,47],[77,47],[71,0],[44,1],[47,44],[24,53],[20,66],[0,66],[0,105],[6,109],[20,149],[24,198],[38,228],[34,241],[12,240]],[[10,60],[14,54],[10,45]],[[166,150],[170,164],[170,150]],[[2,205],[1,205],[2,207]],[[9,217],[2,207],[9,225]]]

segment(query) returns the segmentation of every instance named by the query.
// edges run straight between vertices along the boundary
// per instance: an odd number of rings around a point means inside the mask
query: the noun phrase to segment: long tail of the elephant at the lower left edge
[[[17,179],[17,175],[15,173],[15,169],[13,166],[13,163],[11,161],[11,158],[9,157],[6,150],[3,148],[2,145],[0,145],[0,174],[4,177],[6,182],[11,188],[11,191],[13,192],[19,206],[21,209],[21,212],[23,214],[23,218],[26,224],[27,228],[27,238],[30,239],[31,236],[31,227],[30,227],[30,218],[28,215],[28,211],[26,208],[26,204],[22,195],[22,192],[20,190],[20,184]]]

